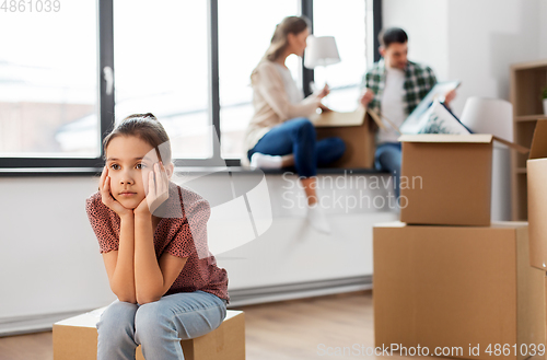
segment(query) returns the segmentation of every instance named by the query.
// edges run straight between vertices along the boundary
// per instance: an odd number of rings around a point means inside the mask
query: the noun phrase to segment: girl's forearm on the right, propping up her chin
[[[158,301],[164,294],[163,274],[154,249],[150,216],[135,216],[135,293],[139,304]]]

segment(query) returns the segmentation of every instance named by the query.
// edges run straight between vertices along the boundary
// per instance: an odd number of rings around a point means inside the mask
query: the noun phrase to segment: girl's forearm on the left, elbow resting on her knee
[[[135,291],[135,217],[121,218],[116,268],[110,280],[112,291],[119,301],[136,303]]]

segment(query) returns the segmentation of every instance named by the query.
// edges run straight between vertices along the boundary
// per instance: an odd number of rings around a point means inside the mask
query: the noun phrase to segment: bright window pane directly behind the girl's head
[[[114,2],[115,114],[153,113],[175,159],[212,158],[207,1]]]

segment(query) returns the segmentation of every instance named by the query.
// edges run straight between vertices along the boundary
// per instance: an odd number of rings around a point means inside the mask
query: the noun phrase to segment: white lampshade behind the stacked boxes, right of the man
[[[513,141],[513,105],[504,100],[469,97],[461,120],[473,132]]]

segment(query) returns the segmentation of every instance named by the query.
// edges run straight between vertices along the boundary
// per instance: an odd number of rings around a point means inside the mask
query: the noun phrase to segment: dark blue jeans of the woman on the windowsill
[[[330,164],[344,155],[346,144],[337,137],[316,141],[315,127],[304,117],[287,120],[272,127],[247,152],[251,156],[255,152],[268,155],[294,154],[294,167],[302,177],[317,175],[317,166]]]

